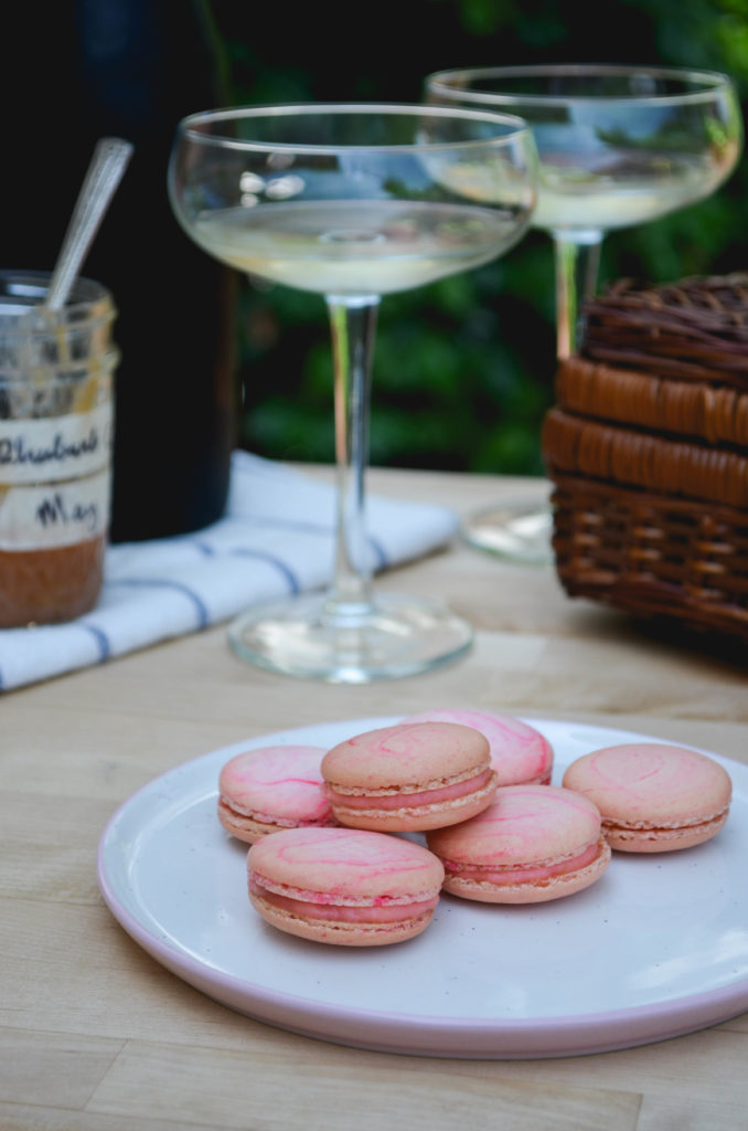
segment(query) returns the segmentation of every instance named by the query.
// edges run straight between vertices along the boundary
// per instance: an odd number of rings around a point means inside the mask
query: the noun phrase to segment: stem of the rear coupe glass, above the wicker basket
[[[598,285],[602,232],[556,230],[553,233],[556,261],[556,354],[571,356],[579,346],[582,303]]]

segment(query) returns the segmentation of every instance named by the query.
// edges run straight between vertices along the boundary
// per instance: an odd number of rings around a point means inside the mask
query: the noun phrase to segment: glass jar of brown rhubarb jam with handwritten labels
[[[0,628],[69,621],[104,577],[119,353],[108,292],[0,271]]]

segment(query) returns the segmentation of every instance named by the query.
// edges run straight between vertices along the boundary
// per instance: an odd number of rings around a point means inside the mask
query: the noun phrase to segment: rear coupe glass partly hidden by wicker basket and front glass
[[[574,353],[580,311],[594,293],[606,232],[710,196],[734,169],[741,118],[724,75],[679,68],[559,64],[441,71],[430,104],[520,114],[540,174],[534,227],[554,241],[557,356]],[[522,561],[551,560],[548,509],[490,508],[466,526],[473,545]]]

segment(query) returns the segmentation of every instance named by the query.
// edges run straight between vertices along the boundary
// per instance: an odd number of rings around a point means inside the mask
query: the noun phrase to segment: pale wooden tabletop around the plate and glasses
[[[538,481],[373,470],[369,490],[447,502],[547,498]],[[116,809],[156,775],[263,733],[471,703],[599,723],[748,763],[746,668],[569,601],[550,567],[462,544],[379,585],[446,601],[471,653],[364,687],[240,663],[225,628],[17,690],[0,701],[0,1128],[748,1128],[748,1015],[620,1052],[534,1061],[369,1052],[233,1012],[121,929],[95,855]],[[748,929],[748,924],[746,924]]]

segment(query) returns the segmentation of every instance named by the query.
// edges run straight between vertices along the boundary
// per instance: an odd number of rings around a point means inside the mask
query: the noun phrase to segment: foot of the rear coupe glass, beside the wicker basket
[[[532,566],[553,563],[551,534],[550,508],[531,504],[487,507],[462,526],[463,539],[477,550]]]

